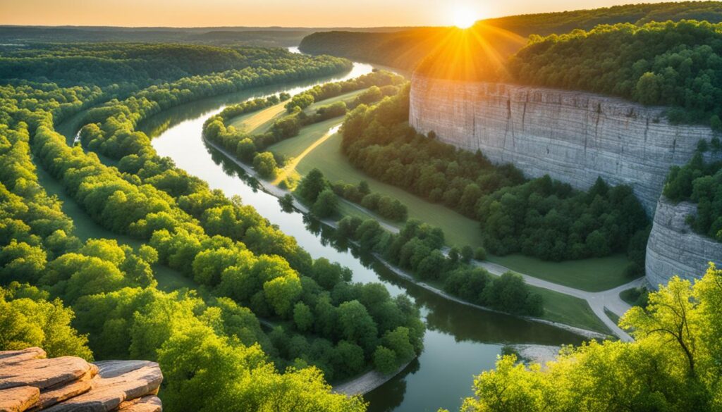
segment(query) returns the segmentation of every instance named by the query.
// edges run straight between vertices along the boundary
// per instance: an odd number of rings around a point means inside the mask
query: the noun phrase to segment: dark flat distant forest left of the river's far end
[[[0,51],[0,80],[4,82],[97,86],[106,92],[129,91],[211,73],[230,76],[232,73],[223,72],[244,67],[283,70],[289,80],[300,79],[306,76],[304,71],[313,70],[316,62],[323,61],[280,48],[165,43],[48,43],[5,47]],[[349,62],[336,61],[350,69]]]

